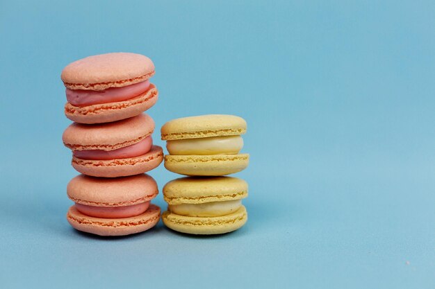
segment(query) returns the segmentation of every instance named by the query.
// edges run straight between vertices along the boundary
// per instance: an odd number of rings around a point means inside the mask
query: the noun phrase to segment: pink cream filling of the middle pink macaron
[[[125,148],[118,148],[117,150],[73,150],[72,154],[79,159],[127,159],[129,157],[145,155],[151,150],[152,146],[153,139],[149,136],[138,143],[126,146]]]

